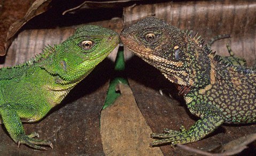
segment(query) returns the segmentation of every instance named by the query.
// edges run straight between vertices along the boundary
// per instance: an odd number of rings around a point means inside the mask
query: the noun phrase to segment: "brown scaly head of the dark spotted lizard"
[[[164,20],[148,17],[123,30],[122,43],[144,61],[159,69],[170,81],[192,86],[195,79],[195,54],[189,47],[187,32],[170,26]]]

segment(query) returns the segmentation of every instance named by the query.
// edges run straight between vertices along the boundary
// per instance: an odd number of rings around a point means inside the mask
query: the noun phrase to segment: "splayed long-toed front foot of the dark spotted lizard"
[[[187,130],[183,126],[181,126],[181,131],[179,130],[170,130],[165,128],[164,133],[162,134],[156,134],[152,133],[150,136],[152,138],[158,138],[159,140],[153,141],[150,143],[150,147],[160,145],[160,144],[167,144],[171,143],[172,147],[174,147],[175,144],[181,143],[184,144],[189,139],[189,136],[187,135]]]

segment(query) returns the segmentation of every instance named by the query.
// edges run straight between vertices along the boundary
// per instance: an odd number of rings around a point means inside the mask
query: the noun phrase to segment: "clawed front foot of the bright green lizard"
[[[18,136],[18,147],[20,146],[20,144],[26,144],[35,149],[47,151],[47,149],[45,149],[42,146],[38,146],[38,145],[49,145],[53,149],[53,145],[50,141],[46,141],[46,140],[42,140],[42,139],[35,139],[34,137],[39,137],[39,135],[35,132],[30,135],[25,135],[25,134],[19,135]]]

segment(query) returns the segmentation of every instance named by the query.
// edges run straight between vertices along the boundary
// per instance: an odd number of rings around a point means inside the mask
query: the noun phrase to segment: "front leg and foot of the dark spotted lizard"
[[[150,146],[171,143],[175,144],[187,144],[196,142],[206,135],[213,132],[224,121],[221,111],[213,105],[193,105],[190,109],[193,114],[200,116],[194,125],[189,130],[181,128],[181,131],[164,129],[163,134],[151,134],[153,138],[159,138],[158,141],[153,141]]]

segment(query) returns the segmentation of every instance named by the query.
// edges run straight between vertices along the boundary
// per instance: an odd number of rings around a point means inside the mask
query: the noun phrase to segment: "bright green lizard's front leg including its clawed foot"
[[[53,147],[52,143],[49,141],[33,138],[39,137],[35,132],[30,135],[25,134],[20,117],[11,104],[2,104],[0,106],[0,114],[7,132],[14,142],[18,143],[18,146],[20,144],[26,144],[38,150],[46,150],[44,147],[38,145],[49,145]]]

